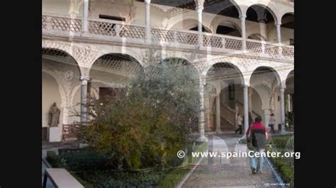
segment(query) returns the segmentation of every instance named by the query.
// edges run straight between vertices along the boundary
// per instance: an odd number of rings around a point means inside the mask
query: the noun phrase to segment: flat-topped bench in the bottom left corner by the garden
[[[43,177],[43,188],[47,187],[47,178],[55,187],[59,188],[84,188],[72,175],[64,168],[47,168]]]

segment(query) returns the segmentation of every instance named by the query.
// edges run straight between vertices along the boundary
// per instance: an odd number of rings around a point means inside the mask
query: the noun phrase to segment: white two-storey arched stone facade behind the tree
[[[293,15],[293,2],[229,2],[235,6],[239,14],[237,18],[220,14],[223,11],[220,7],[226,7],[228,1],[181,1],[181,4],[175,2],[169,6],[160,4],[160,1],[43,0],[42,127],[47,127],[47,110],[52,102],[57,102],[61,109],[60,127],[79,121],[77,117],[69,116],[69,109],[85,110],[76,104],[86,98],[81,88],[87,86],[87,81],[91,83],[91,93],[95,95],[99,95],[99,87],[121,88],[129,75],[118,67],[119,61],[128,59],[136,62],[132,67],[145,70],[149,62],[144,58],[150,50],[161,53],[162,59],[184,59],[198,71],[203,82],[200,88],[203,96],[200,104],[201,135],[203,130],[215,130],[213,102],[219,96],[220,102],[228,104],[225,98],[228,91],[225,90],[231,82],[238,87],[235,87],[233,97],[236,113],[244,113],[244,106],[249,105],[249,112],[262,116],[264,124],[267,124],[271,112],[276,114],[279,124],[284,123],[281,111],[281,102],[284,101],[278,98],[281,98],[281,90],[288,85],[286,81],[293,73],[294,60],[293,46],[289,45],[293,29],[281,27],[281,21],[288,19],[284,20],[284,15]],[[249,20],[249,8],[252,6],[267,10],[273,20],[269,23]],[[262,13],[266,15],[267,11]],[[106,20],[99,15],[125,20]],[[201,25],[198,20],[201,20]],[[216,33],[218,25],[236,30],[230,35],[221,35]],[[206,32],[190,30],[195,27],[198,30],[203,27]],[[258,36],[259,40],[255,40]],[[197,54],[196,58],[194,54]],[[109,64],[101,60],[106,56]],[[232,67],[212,71],[213,65],[219,64],[230,64]],[[258,71],[261,73],[256,74]],[[229,78],[228,75],[234,76]],[[244,100],[242,86],[250,87],[247,92],[250,93],[249,101]],[[221,104],[217,103],[217,109],[218,105]],[[223,107],[218,113],[220,111],[226,112],[227,116],[232,115]],[[230,119],[232,117],[227,120],[230,122]]]

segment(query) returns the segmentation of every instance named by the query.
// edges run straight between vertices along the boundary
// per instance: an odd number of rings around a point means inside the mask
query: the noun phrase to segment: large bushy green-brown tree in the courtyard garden
[[[137,74],[116,96],[89,100],[88,126],[78,138],[98,153],[108,153],[124,168],[179,165],[177,151],[186,148],[198,124],[198,74],[184,59],[152,53],[152,66]]]

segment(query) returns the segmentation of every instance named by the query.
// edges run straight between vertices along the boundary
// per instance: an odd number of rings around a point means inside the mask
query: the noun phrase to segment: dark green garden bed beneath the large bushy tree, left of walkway
[[[188,151],[203,151],[207,143],[189,144]],[[59,155],[47,152],[53,168],[66,168],[84,187],[175,187],[197,161],[187,153],[178,166],[166,169],[118,170],[108,156],[86,148],[60,149]]]

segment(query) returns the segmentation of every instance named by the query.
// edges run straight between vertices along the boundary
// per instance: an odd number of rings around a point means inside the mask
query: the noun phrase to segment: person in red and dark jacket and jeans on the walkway
[[[262,118],[256,117],[246,132],[247,146],[250,151],[259,152],[260,155],[250,157],[250,167],[252,174],[262,173],[262,164],[264,163],[264,151],[269,137],[266,127],[262,125]],[[257,161],[257,164],[256,164]]]

